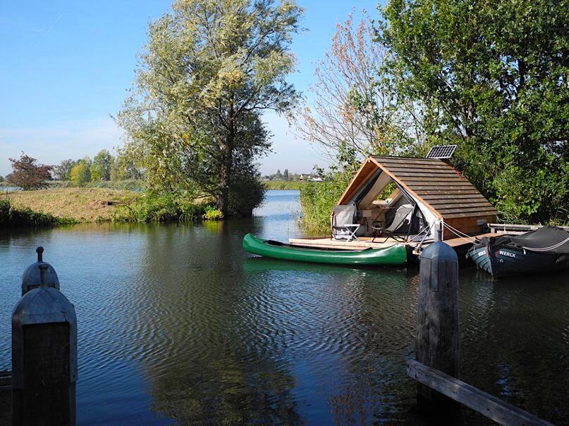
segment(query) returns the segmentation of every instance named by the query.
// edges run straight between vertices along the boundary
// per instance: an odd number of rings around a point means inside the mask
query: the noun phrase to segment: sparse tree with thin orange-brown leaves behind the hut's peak
[[[317,63],[310,102],[293,116],[298,134],[335,161],[341,151],[367,156],[419,149],[425,139],[420,114],[414,102],[398,96],[387,58],[367,14],[360,23],[352,15],[338,23]]]

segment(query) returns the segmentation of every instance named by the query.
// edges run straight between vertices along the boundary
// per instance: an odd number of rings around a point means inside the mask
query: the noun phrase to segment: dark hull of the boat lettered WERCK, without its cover
[[[475,244],[468,251],[479,268],[495,278],[558,272],[569,268],[566,254],[536,252],[511,246]]]

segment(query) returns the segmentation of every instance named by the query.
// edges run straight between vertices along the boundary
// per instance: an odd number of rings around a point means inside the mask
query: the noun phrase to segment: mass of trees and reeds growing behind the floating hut
[[[338,25],[313,101],[295,114],[337,165],[322,198],[301,189],[305,223],[327,223],[333,204],[320,200],[365,156],[424,156],[436,144],[458,145],[453,165],[501,220],[568,223],[568,39],[558,25],[568,19],[546,1],[390,0],[379,20]]]

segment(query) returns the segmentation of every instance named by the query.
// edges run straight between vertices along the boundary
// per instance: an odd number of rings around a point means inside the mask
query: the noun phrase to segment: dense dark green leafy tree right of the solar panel
[[[565,1],[390,0],[380,40],[429,142],[506,220],[569,218],[569,7]]]

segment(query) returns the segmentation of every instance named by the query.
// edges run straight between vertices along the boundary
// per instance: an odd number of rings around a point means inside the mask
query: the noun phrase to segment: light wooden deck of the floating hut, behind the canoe
[[[496,237],[496,233],[487,233],[475,235],[471,238],[480,239],[482,237]],[[346,241],[345,239],[331,239],[330,237],[302,237],[290,238],[288,240],[293,246],[307,246],[314,247],[314,249],[344,249],[344,250],[362,250],[372,247],[374,249],[383,249],[385,247],[393,246],[394,244],[405,244],[408,248],[415,251],[419,242],[399,242],[393,238],[377,237],[374,241],[372,237],[360,237],[358,240]],[[433,242],[432,239],[423,242],[422,247],[426,247]],[[446,244],[453,247],[453,249],[464,249],[464,246],[470,246],[472,239],[467,238],[452,238],[444,240]]]

